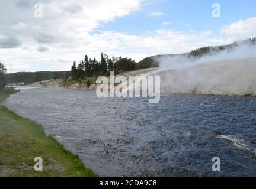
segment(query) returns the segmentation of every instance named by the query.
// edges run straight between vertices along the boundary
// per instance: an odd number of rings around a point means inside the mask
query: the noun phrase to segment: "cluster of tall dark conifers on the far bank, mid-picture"
[[[114,71],[115,74],[119,74],[123,71],[133,71],[138,69],[137,63],[131,58],[123,57],[108,57],[107,54],[101,53],[100,61],[96,58],[88,58],[85,55],[84,59],[80,61],[79,64],[73,61],[71,66],[71,74],[73,80],[84,79],[85,77],[93,76],[105,76],[108,75],[110,71]]]

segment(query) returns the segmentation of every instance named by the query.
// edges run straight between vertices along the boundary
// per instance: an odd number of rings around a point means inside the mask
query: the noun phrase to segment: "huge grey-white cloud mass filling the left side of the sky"
[[[34,71],[53,70],[53,67],[69,70],[72,61],[82,58],[87,51],[98,56],[99,52],[93,51],[101,44],[94,41],[92,30],[102,23],[139,11],[141,1],[41,0],[43,18],[35,18],[34,4],[38,1],[1,0],[1,60],[12,62],[14,69],[23,68],[23,71],[28,70],[28,65]],[[57,61],[60,58],[65,62]]]

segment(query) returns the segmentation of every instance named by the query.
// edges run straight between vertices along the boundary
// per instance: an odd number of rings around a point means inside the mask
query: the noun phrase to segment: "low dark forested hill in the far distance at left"
[[[71,71],[39,71],[39,72],[18,72],[5,74],[6,83],[19,83],[31,84],[43,80],[66,78],[71,76]]]

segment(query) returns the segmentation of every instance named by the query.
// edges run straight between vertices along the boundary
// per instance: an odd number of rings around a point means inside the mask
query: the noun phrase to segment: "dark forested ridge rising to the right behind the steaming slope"
[[[149,67],[159,66],[159,63],[156,61],[156,59],[160,57],[184,56],[188,58],[199,58],[207,54],[216,54],[224,50],[232,50],[233,48],[238,47],[238,45],[243,45],[243,44],[256,45],[256,37],[249,38],[248,40],[244,40],[244,41],[235,41],[234,43],[229,45],[223,45],[223,46],[217,46],[217,47],[201,47],[191,51],[190,53],[162,54],[162,55],[147,57],[147,58],[144,58],[142,61],[139,61],[139,63],[137,63],[137,69],[145,69]]]

